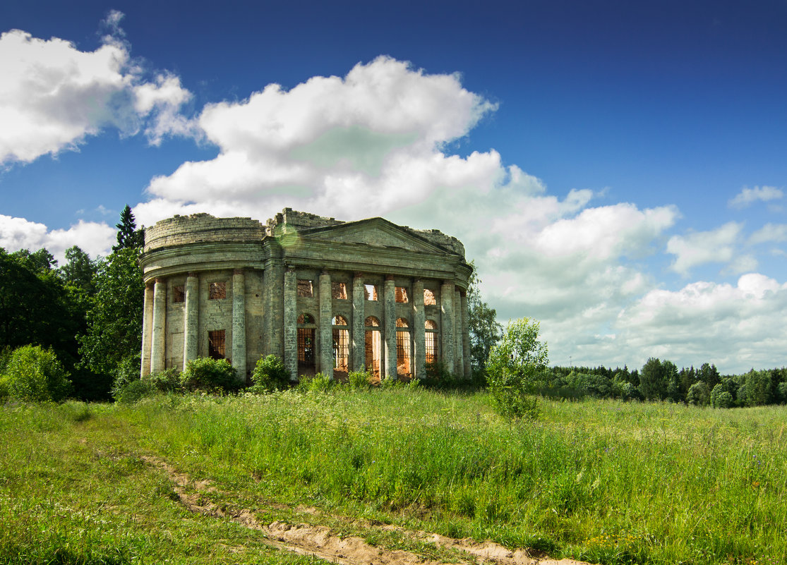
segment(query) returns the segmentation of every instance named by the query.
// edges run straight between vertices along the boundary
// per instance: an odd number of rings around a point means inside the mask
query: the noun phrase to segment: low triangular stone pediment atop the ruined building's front
[[[416,253],[452,253],[427,239],[382,218],[371,218],[336,226],[316,227],[301,231],[304,240],[319,240],[346,244],[403,249]]]

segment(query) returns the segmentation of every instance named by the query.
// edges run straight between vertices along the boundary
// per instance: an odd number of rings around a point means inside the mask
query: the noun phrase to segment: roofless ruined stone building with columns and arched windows
[[[272,353],[292,379],[423,378],[438,360],[470,376],[471,268],[438,230],[292,209],[266,224],[174,216],[147,229],[141,265],[142,375],[212,356],[242,379]]]

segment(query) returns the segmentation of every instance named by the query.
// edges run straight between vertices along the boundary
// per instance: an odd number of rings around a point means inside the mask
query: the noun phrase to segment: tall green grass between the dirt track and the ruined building
[[[787,560],[787,412],[484,393],[169,397],[128,408],[150,449],[260,497],[597,563]],[[773,561],[776,559],[776,561]]]

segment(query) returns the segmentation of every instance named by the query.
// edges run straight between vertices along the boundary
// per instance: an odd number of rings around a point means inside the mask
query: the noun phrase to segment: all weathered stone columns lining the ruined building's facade
[[[293,267],[279,268],[271,273],[283,278],[283,297],[279,298],[279,314],[267,312],[266,331],[269,332],[269,353],[283,353],[285,367],[290,376],[297,379],[298,344],[297,344],[297,273]],[[275,278],[275,276],[273,277]],[[268,269],[265,271],[265,292],[272,287],[272,277]],[[281,281],[281,279],[279,279]],[[279,282],[281,284],[281,282]],[[238,379],[246,378],[246,281],[242,269],[236,269],[231,279],[232,288],[232,334],[231,360],[238,371]],[[279,286],[282,289],[282,286]],[[183,367],[194,360],[199,352],[199,278],[195,272],[187,275],[184,289],[185,305],[183,308]],[[349,334],[350,367],[353,371],[363,370],[365,364],[365,292],[364,275],[357,272],[352,283],[352,321]],[[320,371],[332,376],[334,367],[333,350],[333,300],[331,292],[331,275],[327,271],[320,273],[317,286],[319,297],[318,335],[320,349],[317,360]],[[275,300],[266,301],[272,304]],[[426,307],[423,303],[423,281],[412,282],[412,356],[415,360],[414,372],[422,378],[426,372],[426,345],[424,325]],[[439,332],[440,358],[443,364],[457,375],[470,377],[470,346],[467,333],[467,297],[453,281],[442,282],[440,291]],[[144,316],[142,320],[142,375],[164,371],[166,368],[166,313],[167,313],[167,282],[155,279],[147,283],[145,288]],[[282,318],[279,318],[279,316]],[[382,287],[382,377],[394,378],[397,375],[397,305],[393,275],[386,276]],[[276,327],[276,319],[282,319],[282,326]],[[279,353],[281,352],[281,353]]]

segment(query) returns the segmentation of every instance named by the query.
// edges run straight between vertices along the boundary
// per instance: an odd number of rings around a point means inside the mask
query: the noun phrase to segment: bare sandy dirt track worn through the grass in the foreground
[[[403,549],[386,549],[369,544],[362,537],[340,536],[328,526],[299,523],[290,524],[276,521],[270,524],[260,523],[249,508],[240,510],[228,509],[206,500],[204,494],[218,493],[211,482],[194,481],[186,473],[177,471],[169,463],[155,456],[142,456],[142,460],[164,471],[174,483],[173,490],[180,502],[190,511],[216,518],[231,519],[235,523],[264,534],[264,542],[272,547],[295,552],[301,555],[315,556],[331,563],[342,565],[439,565],[443,561],[429,559],[415,552]],[[190,490],[194,492],[190,492]],[[272,508],[289,509],[274,504]],[[300,510],[301,508],[295,508]],[[319,511],[308,508],[306,513],[319,514]],[[350,520],[348,520],[350,522]],[[590,565],[574,559],[549,559],[530,556],[524,549],[511,550],[493,541],[477,542],[467,539],[456,539],[439,534],[422,531],[405,530],[398,526],[377,526],[363,521],[369,529],[397,531],[414,540],[434,545],[438,548],[449,548],[467,556],[464,563],[480,565]]]

